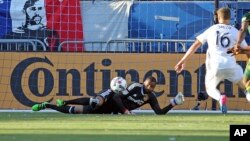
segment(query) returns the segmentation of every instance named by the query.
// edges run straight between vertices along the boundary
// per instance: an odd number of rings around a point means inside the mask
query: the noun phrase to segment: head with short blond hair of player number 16
[[[229,24],[231,19],[230,9],[227,7],[222,7],[216,11],[218,16],[218,22],[222,24]]]

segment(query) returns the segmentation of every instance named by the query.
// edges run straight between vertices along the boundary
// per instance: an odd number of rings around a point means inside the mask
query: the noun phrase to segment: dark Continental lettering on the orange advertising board
[[[195,97],[193,94],[194,91],[205,90],[204,64],[197,65],[192,70],[184,70],[181,74],[177,74],[171,69],[173,67],[168,68],[167,65],[162,67],[164,64],[161,61],[151,66],[136,64],[137,61],[145,61],[144,58],[139,57],[135,61],[129,60],[128,57],[127,61],[134,61],[135,65],[120,65],[117,63],[117,60],[119,61],[121,58],[117,59],[114,56],[108,58],[99,57],[98,59],[90,58],[84,62],[81,62],[83,59],[79,59],[76,63],[78,66],[73,67],[71,65],[72,68],[68,68],[65,65],[57,64],[60,58],[53,61],[53,59],[50,60],[47,57],[28,57],[17,62],[12,69],[13,71],[10,72],[10,88],[15,99],[22,105],[29,107],[37,103],[39,98],[44,97],[95,96],[98,93],[96,92],[96,88],[100,88],[100,90],[109,88],[110,80],[114,75],[122,76],[126,79],[129,78],[129,81],[134,82],[141,82],[146,77],[153,75],[157,79],[157,87],[160,87],[155,92],[158,96],[164,93],[166,97],[174,97],[178,91],[183,91],[185,97]],[[167,60],[168,58],[164,59]],[[174,64],[175,62],[172,62],[171,66]],[[242,61],[241,64],[245,65],[245,62]],[[68,79],[69,77],[71,79]],[[40,79],[43,80],[42,85],[40,84]],[[23,85],[22,83],[24,82],[27,85]],[[69,84],[71,87],[68,86]],[[232,91],[232,83],[225,81],[224,84],[225,92],[229,97],[235,97]],[[32,96],[30,94],[27,95],[27,89]],[[34,100],[31,97],[36,98]],[[244,94],[241,94],[240,97],[244,97]]]

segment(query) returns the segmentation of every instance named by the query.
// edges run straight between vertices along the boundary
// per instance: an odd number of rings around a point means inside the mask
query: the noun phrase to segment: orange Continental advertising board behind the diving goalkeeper
[[[17,53],[0,52],[1,109],[29,109],[34,103],[57,98],[73,99],[95,96],[109,88],[115,76],[128,83],[143,82],[147,76],[157,79],[155,92],[161,106],[177,92],[186,97],[176,109],[190,109],[197,93],[205,91],[205,54],[193,55],[186,69],[177,74],[174,66],[183,54],[131,53]],[[244,67],[247,58],[237,56]],[[149,61],[150,60],[150,61]],[[225,81],[221,91],[229,97],[229,109],[250,110],[245,95],[237,86]],[[211,109],[211,98],[207,108]],[[149,105],[142,109],[150,109]]]

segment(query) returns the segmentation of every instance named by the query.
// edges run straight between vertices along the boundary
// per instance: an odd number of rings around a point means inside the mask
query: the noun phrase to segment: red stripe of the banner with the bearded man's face
[[[59,42],[83,41],[83,26],[79,0],[46,0],[47,27],[57,32]],[[52,43],[53,44],[53,43]],[[52,51],[56,48],[52,47]],[[80,44],[65,44],[62,51],[84,51]]]

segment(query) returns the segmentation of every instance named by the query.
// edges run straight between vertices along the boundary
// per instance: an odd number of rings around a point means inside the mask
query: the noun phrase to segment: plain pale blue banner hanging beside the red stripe
[[[128,37],[128,17],[131,1],[82,1],[84,40],[107,42]],[[105,14],[104,14],[105,13]],[[125,46],[110,47],[110,51],[123,51]],[[100,51],[100,47],[85,45],[87,51]],[[102,51],[106,51],[102,48]]]

